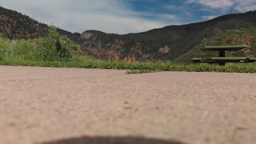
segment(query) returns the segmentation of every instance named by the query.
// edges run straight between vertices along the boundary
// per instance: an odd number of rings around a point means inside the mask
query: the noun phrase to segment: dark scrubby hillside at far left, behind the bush
[[[71,33],[58,28],[58,32],[72,40],[77,40],[80,34]],[[48,33],[48,25],[31,19],[15,10],[0,7],[0,34],[9,39],[37,39]]]

